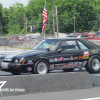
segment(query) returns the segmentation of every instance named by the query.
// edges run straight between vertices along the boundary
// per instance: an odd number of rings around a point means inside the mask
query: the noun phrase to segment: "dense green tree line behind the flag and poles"
[[[27,6],[16,2],[9,8],[3,8],[0,3],[0,33],[24,34],[25,18],[28,33],[31,33],[31,25],[36,27],[36,33],[42,33],[44,2],[45,0],[29,0]],[[74,32],[74,25],[76,32],[100,29],[100,0],[54,0],[54,9],[55,6],[58,10],[59,32]],[[46,8],[48,16],[46,33],[53,34],[52,0],[46,0]]]

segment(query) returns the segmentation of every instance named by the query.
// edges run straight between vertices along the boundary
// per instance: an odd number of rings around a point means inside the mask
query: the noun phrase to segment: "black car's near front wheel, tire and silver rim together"
[[[49,72],[49,64],[45,60],[39,60],[35,63],[33,69],[34,74],[46,74]]]

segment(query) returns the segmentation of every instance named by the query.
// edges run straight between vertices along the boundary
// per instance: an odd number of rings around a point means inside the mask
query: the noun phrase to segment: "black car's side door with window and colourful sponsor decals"
[[[64,40],[55,52],[55,69],[81,67],[83,55],[75,40]]]

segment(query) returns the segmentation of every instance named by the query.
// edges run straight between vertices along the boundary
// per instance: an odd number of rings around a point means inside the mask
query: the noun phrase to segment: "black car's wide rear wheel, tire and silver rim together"
[[[85,68],[91,74],[99,73],[100,72],[100,57],[98,55],[94,55],[90,57]]]

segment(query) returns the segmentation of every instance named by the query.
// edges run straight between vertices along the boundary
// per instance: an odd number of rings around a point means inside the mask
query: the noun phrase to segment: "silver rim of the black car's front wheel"
[[[37,65],[37,71],[38,71],[39,74],[47,73],[47,65],[44,62],[40,62]]]

